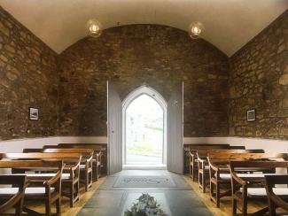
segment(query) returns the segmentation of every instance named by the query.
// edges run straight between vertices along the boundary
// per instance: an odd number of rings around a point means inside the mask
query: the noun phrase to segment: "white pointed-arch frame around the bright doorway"
[[[148,85],[143,85],[134,89],[132,92],[126,96],[122,101],[122,161],[123,165],[126,165],[126,110],[128,105],[131,104],[138,96],[147,95],[151,96],[163,110],[163,152],[162,152],[162,163],[167,164],[167,101],[160,93],[149,87]]]

